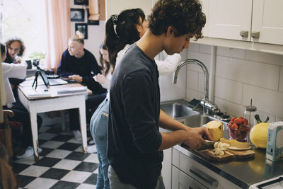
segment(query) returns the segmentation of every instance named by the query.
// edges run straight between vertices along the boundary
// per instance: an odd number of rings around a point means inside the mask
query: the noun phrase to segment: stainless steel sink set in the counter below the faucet
[[[218,120],[211,115],[203,115],[201,108],[192,110],[192,108],[187,106],[187,101],[184,100],[161,103],[161,110],[170,115],[171,118],[190,127],[202,127],[209,121]],[[227,122],[221,122],[224,125],[224,130],[227,130]]]

